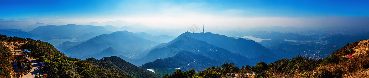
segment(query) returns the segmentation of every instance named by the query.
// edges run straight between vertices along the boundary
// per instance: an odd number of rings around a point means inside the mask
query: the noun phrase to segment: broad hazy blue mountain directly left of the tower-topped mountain
[[[117,31],[108,35],[99,35],[76,46],[64,48],[62,51],[66,55],[80,57],[101,52],[108,47],[121,52],[132,52],[141,49],[145,50],[159,44],[158,42],[131,35],[131,33],[128,31]]]

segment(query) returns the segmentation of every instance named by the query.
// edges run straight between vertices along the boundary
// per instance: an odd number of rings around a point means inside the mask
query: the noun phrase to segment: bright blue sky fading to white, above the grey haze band
[[[368,4],[365,0],[1,0],[0,21],[369,17]]]

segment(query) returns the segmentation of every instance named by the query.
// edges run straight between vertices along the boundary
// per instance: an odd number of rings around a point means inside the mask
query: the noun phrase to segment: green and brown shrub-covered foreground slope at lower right
[[[369,68],[369,52],[364,55],[346,58],[354,52],[349,50],[358,45],[360,41],[347,44],[345,47],[335,51],[325,59],[313,60],[297,55],[294,58],[283,58],[273,63],[259,62],[255,66],[243,66],[241,69],[234,64],[224,63],[221,67],[209,67],[191,75],[192,71],[174,71],[171,75],[163,78],[249,78],[251,72],[254,78],[340,78],[344,74]]]

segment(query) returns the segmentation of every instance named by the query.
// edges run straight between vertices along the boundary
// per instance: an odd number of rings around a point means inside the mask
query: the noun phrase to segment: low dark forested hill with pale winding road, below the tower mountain
[[[223,64],[218,59],[208,58],[202,54],[195,54],[194,52],[180,50],[175,56],[156,59],[153,62],[145,63],[142,68],[156,69],[156,68],[180,68],[182,70],[195,69],[204,70],[210,66],[219,66]]]

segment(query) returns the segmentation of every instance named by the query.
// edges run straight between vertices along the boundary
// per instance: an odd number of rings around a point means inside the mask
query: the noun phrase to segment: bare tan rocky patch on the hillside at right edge
[[[369,52],[369,40],[363,40],[358,43],[358,46],[354,47],[352,50],[355,51],[353,55],[363,55]]]

